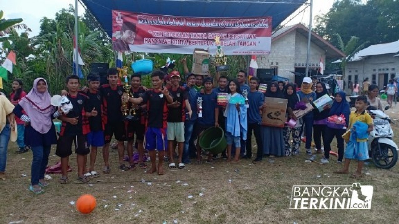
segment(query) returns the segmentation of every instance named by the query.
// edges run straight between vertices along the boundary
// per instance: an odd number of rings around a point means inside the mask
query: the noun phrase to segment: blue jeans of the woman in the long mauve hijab
[[[49,155],[51,151],[51,145],[35,146],[32,147],[33,159],[31,167],[31,184],[39,184],[40,179],[44,179],[47,163],[49,161]]]

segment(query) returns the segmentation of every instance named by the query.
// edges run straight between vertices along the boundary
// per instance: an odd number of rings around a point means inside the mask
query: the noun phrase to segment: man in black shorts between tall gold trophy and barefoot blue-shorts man
[[[130,94],[133,98],[141,97],[146,90],[144,90],[141,86],[141,76],[137,74],[133,74],[130,82]],[[144,149],[143,149],[143,141],[144,141],[144,132],[145,132],[145,115],[144,110],[146,110],[146,104],[132,104],[132,107],[136,108],[136,116],[138,116],[138,120],[126,121],[127,124],[127,154],[129,156],[129,163],[132,167],[135,167],[132,155],[133,155],[133,140],[134,134],[136,134],[137,141],[137,151],[138,151],[138,165],[142,169],[146,169],[147,165],[143,161]]]

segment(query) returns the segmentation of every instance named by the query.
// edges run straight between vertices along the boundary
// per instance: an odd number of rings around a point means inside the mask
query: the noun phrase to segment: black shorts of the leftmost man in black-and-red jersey
[[[87,145],[86,136],[75,135],[75,136],[59,136],[57,141],[57,149],[55,155],[59,157],[67,157],[72,154],[72,142],[75,142],[75,153],[78,155],[87,155],[90,153],[89,146]]]

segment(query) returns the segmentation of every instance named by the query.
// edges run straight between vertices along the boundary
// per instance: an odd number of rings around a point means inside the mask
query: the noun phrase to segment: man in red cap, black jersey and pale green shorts
[[[186,108],[188,110],[188,116],[191,117],[192,110],[190,103],[188,102],[187,91],[184,87],[180,86],[180,73],[178,71],[172,71],[170,74],[170,81],[172,86],[169,88],[169,92],[173,97],[173,102],[168,104],[168,150],[169,150],[169,168],[176,169],[174,163],[173,153],[175,150],[175,140],[178,143],[179,163],[178,168],[183,169],[185,167],[182,162],[183,159],[183,146],[184,146],[184,120],[186,119]]]

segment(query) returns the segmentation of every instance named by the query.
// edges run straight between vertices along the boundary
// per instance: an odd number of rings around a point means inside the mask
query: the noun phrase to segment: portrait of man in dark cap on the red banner
[[[115,31],[112,34],[114,39],[112,47],[114,51],[130,51],[130,44],[133,44],[136,38],[137,29],[136,24],[132,22],[122,22],[120,31]]]

